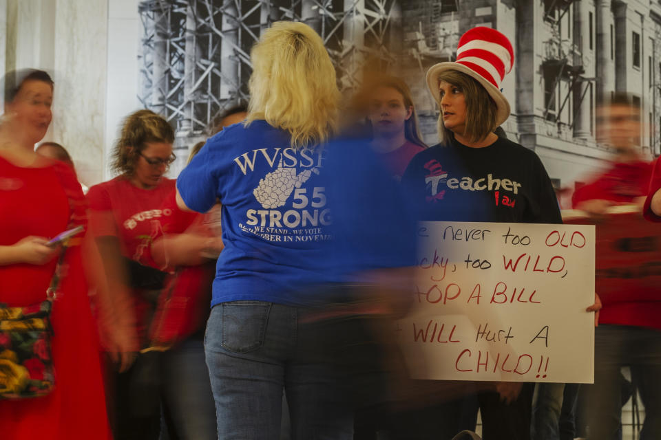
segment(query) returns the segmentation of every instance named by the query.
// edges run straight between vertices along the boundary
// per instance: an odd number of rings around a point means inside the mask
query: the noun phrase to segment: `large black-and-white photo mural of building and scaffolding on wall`
[[[574,186],[608,157],[595,107],[615,91],[640,105],[640,147],[658,155],[661,5],[588,0],[169,0],[141,1],[140,102],[176,124],[178,147],[207,135],[209,121],[249,99],[250,47],[277,20],[303,21],[323,37],[346,96],[366,72],[406,78],[425,140],[437,139],[437,105],[425,73],[452,61],[459,36],[477,25],[515,42],[503,93],[503,126],[540,155],[558,188]],[[578,182],[580,184],[580,182]]]

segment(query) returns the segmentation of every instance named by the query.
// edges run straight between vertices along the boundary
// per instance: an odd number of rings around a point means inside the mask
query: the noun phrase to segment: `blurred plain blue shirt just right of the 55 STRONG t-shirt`
[[[333,208],[324,265],[343,283],[373,270],[415,264],[415,213],[383,155],[368,139],[336,139],[327,150],[324,186]]]

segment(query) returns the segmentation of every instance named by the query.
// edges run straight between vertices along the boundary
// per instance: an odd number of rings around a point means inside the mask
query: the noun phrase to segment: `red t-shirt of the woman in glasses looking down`
[[[161,221],[172,215],[162,208],[175,190],[174,179],[162,179],[154,189],[145,190],[123,176],[90,188],[90,229],[94,236],[117,236],[124,256],[160,269],[151,258],[151,241],[160,234]]]

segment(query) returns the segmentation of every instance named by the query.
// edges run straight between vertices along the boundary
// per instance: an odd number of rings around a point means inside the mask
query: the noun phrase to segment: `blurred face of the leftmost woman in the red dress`
[[[36,144],[43,139],[53,118],[50,106],[53,88],[39,80],[27,80],[21,84],[14,100],[7,104],[11,123],[21,130],[25,139]]]

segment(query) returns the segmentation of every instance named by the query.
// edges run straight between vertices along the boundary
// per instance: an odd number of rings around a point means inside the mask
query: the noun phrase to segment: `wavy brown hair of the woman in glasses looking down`
[[[138,156],[150,142],[174,143],[172,126],[151,110],[138,110],[128,115],[112,152],[112,170],[132,175]]]

